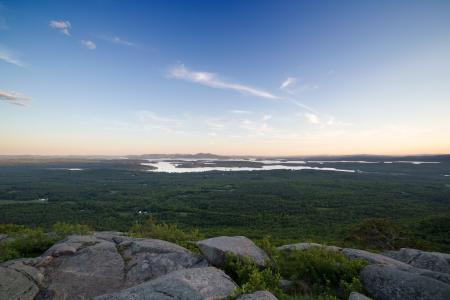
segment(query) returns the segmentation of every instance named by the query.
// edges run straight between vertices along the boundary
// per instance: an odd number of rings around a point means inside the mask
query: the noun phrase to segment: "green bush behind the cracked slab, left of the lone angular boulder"
[[[198,230],[183,231],[175,224],[158,224],[149,218],[144,224],[136,224],[130,228],[133,237],[160,239],[181,245],[191,251],[198,252],[196,241],[204,238]]]

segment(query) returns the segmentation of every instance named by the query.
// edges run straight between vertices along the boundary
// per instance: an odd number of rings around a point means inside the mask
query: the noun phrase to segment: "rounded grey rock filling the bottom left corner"
[[[0,299],[33,300],[38,293],[39,287],[26,273],[0,267]]]

